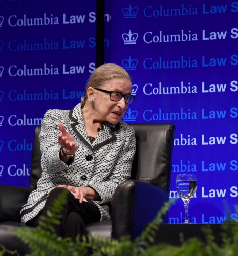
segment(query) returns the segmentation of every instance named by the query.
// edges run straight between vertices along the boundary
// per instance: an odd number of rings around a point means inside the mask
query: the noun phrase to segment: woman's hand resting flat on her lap
[[[90,200],[100,200],[100,196],[92,187],[73,187],[67,185],[60,185],[58,187],[67,188],[69,191],[75,194],[74,198],[79,198],[79,203],[82,203],[83,198],[87,198]]]

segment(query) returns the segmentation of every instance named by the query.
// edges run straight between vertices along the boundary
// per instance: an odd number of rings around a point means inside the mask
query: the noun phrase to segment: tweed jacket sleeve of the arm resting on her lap
[[[111,203],[116,187],[121,182],[131,177],[132,162],[135,151],[135,131],[130,127],[124,146],[117,158],[111,174],[107,177],[106,181],[102,183],[90,184],[90,186],[94,188],[101,197],[101,201],[96,201],[98,204]]]

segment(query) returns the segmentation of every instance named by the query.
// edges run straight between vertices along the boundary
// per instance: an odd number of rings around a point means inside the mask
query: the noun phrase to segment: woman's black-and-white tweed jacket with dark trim
[[[69,165],[59,159],[59,122],[63,123],[78,144],[78,150]],[[131,175],[136,150],[134,129],[123,121],[116,125],[105,122],[91,144],[86,134],[81,104],[78,104],[70,111],[48,110],[42,121],[39,140],[42,177],[37,189],[30,194],[27,204],[20,211],[21,222],[25,224],[34,218],[45,205],[48,197],[46,193],[59,185],[94,188],[101,201],[92,202],[99,208],[101,220],[109,220],[109,205],[114,191]]]

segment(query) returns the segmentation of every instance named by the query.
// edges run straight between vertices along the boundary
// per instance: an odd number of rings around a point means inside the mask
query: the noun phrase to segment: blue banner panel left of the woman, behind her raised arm
[[[30,185],[34,130],[72,109],[96,63],[96,0],[0,1],[0,183]]]

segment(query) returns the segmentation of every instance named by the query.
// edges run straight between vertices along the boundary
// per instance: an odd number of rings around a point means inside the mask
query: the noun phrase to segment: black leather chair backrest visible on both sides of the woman
[[[171,123],[141,123],[131,126],[135,129],[137,141],[131,179],[141,180],[169,190],[175,126]],[[41,126],[37,126],[31,162],[30,187],[33,189],[36,189],[37,181],[42,175],[40,131]]]

